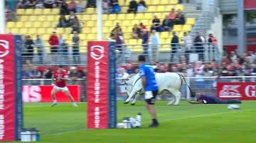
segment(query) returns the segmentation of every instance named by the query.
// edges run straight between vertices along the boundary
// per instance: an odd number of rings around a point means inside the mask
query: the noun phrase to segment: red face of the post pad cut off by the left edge
[[[0,142],[15,139],[15,59],[14,37],[0,40]]]

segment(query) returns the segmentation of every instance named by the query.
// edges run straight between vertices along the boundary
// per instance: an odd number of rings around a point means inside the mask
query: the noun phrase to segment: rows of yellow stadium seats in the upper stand
[[[68,1],[69,2],[69,1]],[[79,1],[77,1],[79,2]],[[185,7],[182,4],[178,4],[178,0],[159,0],[151,1],[146,0],[146,5],[148,9],[141,13],[126,13],[129,6],[129,1],[119,1],[119,6],[122,8],[122,12],[119,14],[104,14],[103,18],[103,34],[104,40],[110,35],[110,32],[114,25],[119,22],[124,35],[124,43],[141,45],[141,40],[134,40],[131,37],[132,27],[134,23],[144,23],[146,27],[150,28],[151,20],[156,15],[161,19],[161,22],[164,20],[164,16],[169,14],[171,8],[175,8],[175,11],[180,9],[183,11]],[[48,38],[50,33],[56,29],[58,35],[63,35],[63,38],[68,42],[69,45],[72,43],[72,34],[71,28],[56,28],[58,24],[58,19],[60,18],[60,9],[59,8],[18,8],[17,22],[8,22],[7,23],[7,32],[14,34],[22,35],[31,35],[32,38],[36,38],[36,35],[42,35],[44,43],[46,45],[46,51],[50,52],[48,45]],[[186,13],[185,13],[186,15]],[[78,20],[81,25],[80,45],[87,45],[88,40],[96,40],[97,28],[95,25],[97,23],[96,8],[85,8],[85,12],[77,13]],[[69,16],[65,16],[67,19]],[[186,18],[186,23],[184,25],[174,25],[174,31],[178,33],[178,37],[181,39],[183,37],[183,32],[191,31],[193,25],[195,24],[195,17]],[[169,43],[171,41],[172,35],[170,32],[162,32],[160,34],[162,42]],[[138,49],[132,48],[132,52],[141,52],[141,46],[138,46]],[[169,51],[170,48],[161,47],[160,51]],[[85,48],[81,48],[80,52],[86,52]]]

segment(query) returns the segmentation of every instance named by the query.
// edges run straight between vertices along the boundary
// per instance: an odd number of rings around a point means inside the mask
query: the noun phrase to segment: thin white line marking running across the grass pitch
[[[166,122],[166,121],[170,121],[170,120],[182,120],[182,119],[189,119],[189,118],[208,117],[208,116],[212,116],[212,115],[220,115],[220,114],[226,114],[226,113],[241,113],[241,112],[245,112],[245,111],[249,111],[249,110],[252,110],[252,109],[229,111],[229,112],[222,112],[222,113],[210,113],[210,114],[203,114],[203,115],[193,115],[193,116],[188,116],[188,117],[183,117],[183,118],[173,118],[173,119],[160,120],[160,122]],[[144,122],[144,123],[149,123],[149,122]],[[70,133],[73,133],[73,132],[79,132],[79,131],[84,131],[84,130],[88,130],[88,129],[72,130],[72,131],[68,131],[68,132],[60,132],[60,133],[57,133],[57,134],[44,135],[44,136],[64,135],[64,134],[70,134]]]

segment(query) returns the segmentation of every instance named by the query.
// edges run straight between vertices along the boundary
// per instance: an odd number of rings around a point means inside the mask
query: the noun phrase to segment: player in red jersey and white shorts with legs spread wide
[[[53,98],[53,104],[51,106],[57,105],[55,94],[58,93],[58,91],[63,91],[63,93],[65,93],[65,95],[70,98],[73,106],[78,107],[78,104],[75,103],[73,96],[71,96],[70,91],[68,91],[68,87],[65,84],[65,81],[69,79],[67,72],[65,69],[63,69],[63,66],[60,65],[57,71],[53,72],[52,81],[53,79],[55,80],[55,85],[53,86],[53,90],[50,93],[51,97]]]

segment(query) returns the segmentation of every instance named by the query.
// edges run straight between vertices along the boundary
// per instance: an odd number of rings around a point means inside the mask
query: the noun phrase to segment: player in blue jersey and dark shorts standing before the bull
[[[146,109],[149,110],[152,119],[152,124],[149,127],[158,127],[159,122],[156,120],[154,102],[159,88],[154,76],[154,68],[146,63],[144,55],[139,55],[139,75],[142,77],[142,87],[145,91]]]

